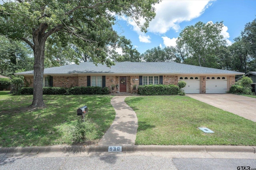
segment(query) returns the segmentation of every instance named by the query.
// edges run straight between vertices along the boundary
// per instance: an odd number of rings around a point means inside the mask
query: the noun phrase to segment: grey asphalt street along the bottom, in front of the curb
[[[256,154],[241,152],[45,152],[0,156],[1,170],[256,170]]]

